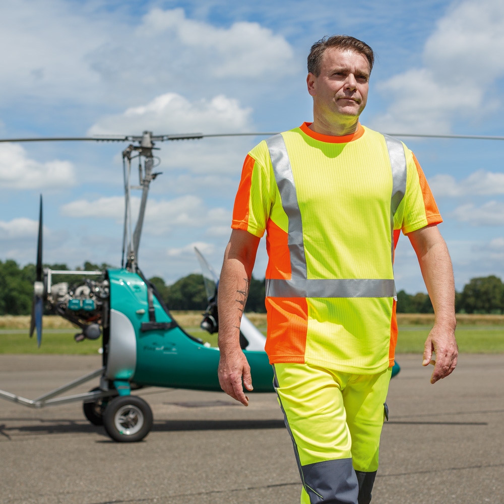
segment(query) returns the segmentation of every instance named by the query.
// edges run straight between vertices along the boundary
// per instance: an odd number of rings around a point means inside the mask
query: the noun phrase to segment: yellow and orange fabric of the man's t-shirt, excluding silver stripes
[[[308,279],[393,279],[393,177],[385,137],[362,127],[347,136],[282,133],[302,221]],[[418,161],[404,147],[406,190],[394,215],[394,247],[409,233],[442,222]],[[289,217],[266,141],[244,162],[233,229],[267,232],[266,279],[290,279]],[[394,297],[269,297],[266,351],[271,363],[299,362],[350,373],[394,363]]]

